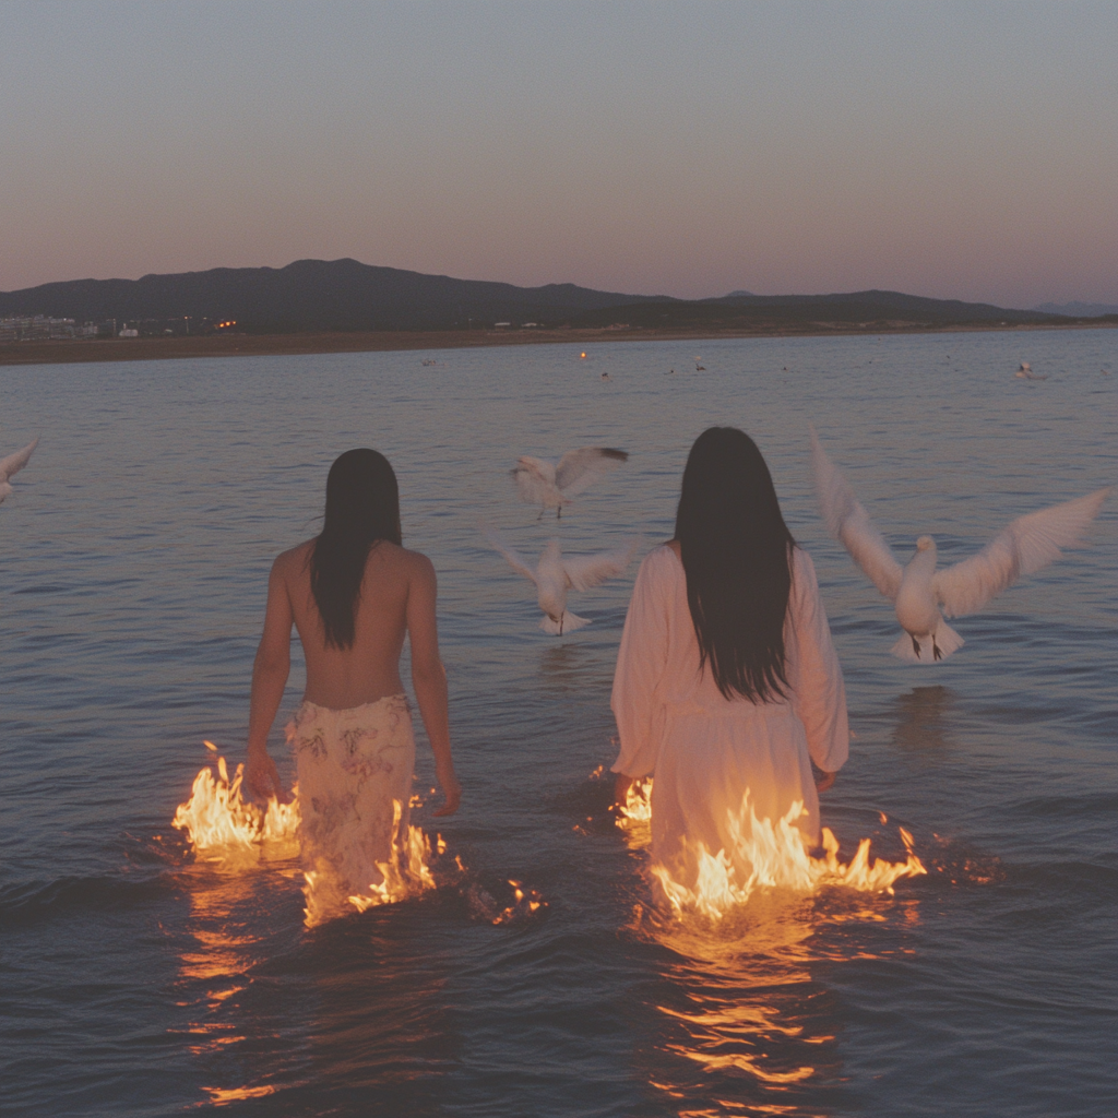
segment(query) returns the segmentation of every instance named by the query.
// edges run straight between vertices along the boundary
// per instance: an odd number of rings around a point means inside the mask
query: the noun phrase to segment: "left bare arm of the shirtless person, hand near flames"
[[[248,701],[248,760],[245,786],[258,799],[284,799],[275,761],[268,756],[268,731],[283,701],[283,689],[291,671],[291,626],[294,622],[287,581],[286,555],[272,565],[268,576],[268,604],[264,613],[264,634],[253,661],[253,691]]]

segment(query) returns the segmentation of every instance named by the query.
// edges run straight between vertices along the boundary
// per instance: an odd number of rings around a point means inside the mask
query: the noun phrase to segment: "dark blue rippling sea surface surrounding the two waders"
[[[0,451],[42,436],[0,506],[6,1115],[1118,1112],[1118,498],[1089,548],[909,666],[824,531],[807,426],[899,556],[929,532],[949,563],[1118,482],[1118,333],[579,352],[0,369]],[[757,439],[815,560],[856,735],[823,821],[845,858],[861,837],[902,856],[912,832],[929,873],[893,896],[760,893],[717,926],[650,910],[598,773],[636,563],[548,637],[479,531],[643,553],[711,424]],[[537,520],[515,457],[585,444],[632,457]],[[222,870],[169,824],[202,739],[243,757],[268,568],[353,446],[394,463],[405,542],[438,571],[465,795],[414,821],[465,869],[307,931],[293,862]],[[295,642],[288,776],[302,682]],[[417,774],[433,802],[421,735]]]

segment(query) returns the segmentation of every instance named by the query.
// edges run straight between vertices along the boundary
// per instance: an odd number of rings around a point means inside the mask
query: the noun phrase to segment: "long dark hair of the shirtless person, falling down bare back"
[[[326,645],[353,644],[353,616],[369,551],[380,540],[400,542],[400,491],[388,458],[347,451],[326,475],[326,514],[311,552],[311,593],[326,629]]]

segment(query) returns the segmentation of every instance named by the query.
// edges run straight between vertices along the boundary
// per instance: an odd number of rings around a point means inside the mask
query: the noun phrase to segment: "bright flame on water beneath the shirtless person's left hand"
[[[217,747],[205,742],[216,752]],[[217,776],[210,766],[195,777],[190,799],[180,804],[171,821],[172,827],[187,832],[196,854],[228,861],[237,855],[258,858],[267,849],[273,856],[291,856],[299,842],[299,787],[290,804],[274,797],[264,808],[241,795],[245,766],[238,765],[229,779],[224,757],[217,759]]]

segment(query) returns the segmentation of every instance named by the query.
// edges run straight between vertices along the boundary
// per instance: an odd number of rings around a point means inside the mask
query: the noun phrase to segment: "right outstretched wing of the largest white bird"
[[[982,609],[1022,575],[1046,567],[1064,548],[1078,543],[1098,515],[1110,487],[1018,517],[978,552],[936,571],[931,588],[948,617]]]

